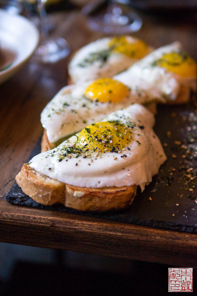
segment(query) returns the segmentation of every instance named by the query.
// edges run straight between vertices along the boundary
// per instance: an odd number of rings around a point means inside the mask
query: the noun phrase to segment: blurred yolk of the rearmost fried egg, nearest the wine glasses
[[[144,41],[129,40],[126,36],[112,38],[109,46],[115,52],[120,52],[134,59],[141,59],[148,52],[148,46]]]

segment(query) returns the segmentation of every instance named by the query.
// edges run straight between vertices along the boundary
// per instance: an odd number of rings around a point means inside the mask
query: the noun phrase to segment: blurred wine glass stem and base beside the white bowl
[[[70,46],[64,38],[50,38],[47,26],[45,3],[47,0],[37,0],[37,11],[40,16],[40,43],[32,59],[36,62],[55,63],[68,56]]]

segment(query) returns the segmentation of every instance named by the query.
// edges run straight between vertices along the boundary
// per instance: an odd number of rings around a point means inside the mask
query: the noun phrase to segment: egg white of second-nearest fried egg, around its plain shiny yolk
[[[132,103],[127,97],[119,103],[103,103],[87,99],[84,93],[89,84],[83,82],[65,86],[42,111],[41,123],[51,143],[72,135],[89,124],[102,120],[112,111]]]

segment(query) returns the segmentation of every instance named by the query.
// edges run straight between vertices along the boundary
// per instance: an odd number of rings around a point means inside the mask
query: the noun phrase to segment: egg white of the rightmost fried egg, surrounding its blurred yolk
[[[179,53],[181,50],[178,41],[162,46],[113,78],[129,86],[134,95],[138,92],[143,97],[149,96],[161,102],[175,100],[181,86],[196,90],[196,77],[181,77],[165,67],[155,65],[155,62],[163,54]]]

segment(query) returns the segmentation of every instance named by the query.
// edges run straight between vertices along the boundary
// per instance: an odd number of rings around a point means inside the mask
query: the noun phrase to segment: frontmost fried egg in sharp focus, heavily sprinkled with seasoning
[[[139,185],[144,190],[166,156],[154,133],[154,116],[140,104],[91,123],[29,165],[60,182],[101,188]]]

